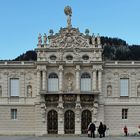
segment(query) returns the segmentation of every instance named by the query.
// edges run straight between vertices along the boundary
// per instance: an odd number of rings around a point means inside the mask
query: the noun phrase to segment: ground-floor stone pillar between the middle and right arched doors
[[[77,95],[75,107],[75,134],[81,134],[81,104],[80,95]]]

